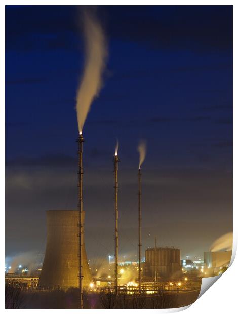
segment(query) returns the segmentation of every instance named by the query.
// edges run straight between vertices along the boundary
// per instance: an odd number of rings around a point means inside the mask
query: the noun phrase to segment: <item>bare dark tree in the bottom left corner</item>
[[[5,308],[23,308],[24,297],[21,288],[13,282],[5,284]]]

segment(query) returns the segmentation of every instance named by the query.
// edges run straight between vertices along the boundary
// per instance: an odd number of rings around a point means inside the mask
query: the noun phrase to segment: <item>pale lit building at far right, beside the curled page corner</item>
[[[208,268],[228,266],[232,251],[204,252],[204,263]]]

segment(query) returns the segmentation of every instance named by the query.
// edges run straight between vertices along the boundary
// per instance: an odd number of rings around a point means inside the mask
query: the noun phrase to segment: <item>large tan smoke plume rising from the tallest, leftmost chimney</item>
[[[94,98],[102,86],[102,72],[107,57],[106,40],[101,25],[88,12],[84,12],[85,66],[77,90],[76,110],[78,130],[82,133],[85,120]]]

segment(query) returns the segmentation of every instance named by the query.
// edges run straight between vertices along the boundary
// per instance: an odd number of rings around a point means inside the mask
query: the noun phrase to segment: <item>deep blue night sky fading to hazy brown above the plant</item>
[[[86,249],[114,252],[113,154],[120,147],[120,260],[208,250],[232,230],[232,6],[98,7],[104,85],[84,126]],[[6,7],[6,255],[44,257],[46,210],[76,209],[75,97],[84,67],[80,7]]]

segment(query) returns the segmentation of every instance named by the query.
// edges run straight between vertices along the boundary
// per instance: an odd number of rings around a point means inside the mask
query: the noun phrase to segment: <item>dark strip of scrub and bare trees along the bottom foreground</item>
[[[156,293],[148,294],[127,290],[119,291],[116,295],[113,289],[106,288],[98,292],[83,294],[84,308],[176,308],[193,303],[199,295],[199,290],[186,293],[169,292],[163,288]],[[67,291],[22,292],[24,302],[14,308],[78,308],[78,289]],[[18,302],[19,303],[19,302]]]

